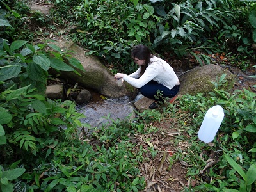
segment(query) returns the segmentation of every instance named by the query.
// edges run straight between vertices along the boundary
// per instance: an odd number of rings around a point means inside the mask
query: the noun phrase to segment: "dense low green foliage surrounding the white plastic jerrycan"
[[[223,79],[220,83],[224,82]],[[209,93],[209,98],[202,97],[201,93],[195,96],[186,95],[177,106],[174,106],[175,110],[189,113],[180,120],[189,122],[183,129],[188,132],[189,143],[192,144],[188,150],[180,150],[173,158],[182,158],[189,163],[188,177],[196,178],[197,175],[201,175],[204,178],[211,178],[191,188],[193,190],[253,191],[256,188],[256,94],[248,90],[237,90],[230,95],[218,89],[217,85],[220,84],[215,83],[215,85],[216,89]],[[225,117],[218,136],[213,141],[215,145],[209,146],[198,142],[197,132],[207,109],[216,104],[223,107]],[[172,111],[171,117],[177,114],[175,110]],[[193,118],[195,115],[196,118]],[[177,138],[179,141],[188,140],[186,136]],[[207,160],[211,151],[216,152],[214,159],[215,161],[218,159],[218,163],[210,166],[209,171],[200,173],[209,163]]]

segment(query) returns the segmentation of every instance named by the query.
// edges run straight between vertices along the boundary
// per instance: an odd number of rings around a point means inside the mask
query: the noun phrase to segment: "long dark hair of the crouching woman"
[[[140,75],[142,75],[148,67],[150,58],[152,58],[152,54],[150,49],[146,45],[140,44],[133,47],[131,57],[133,60],[135,60],[135,58],[145,60],[145,64],[140,66]]]

